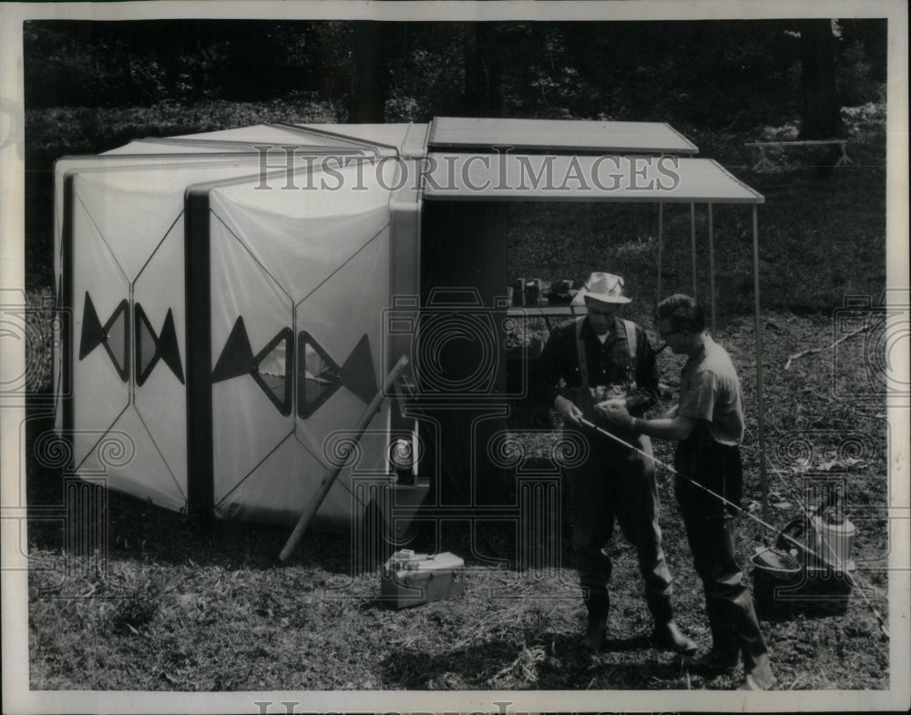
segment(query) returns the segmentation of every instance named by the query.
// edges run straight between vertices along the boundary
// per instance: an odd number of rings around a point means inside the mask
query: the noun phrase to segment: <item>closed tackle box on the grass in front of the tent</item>
[[[464,592],[465,561],[448,551],[433,555],[396,551],[380,577],[380,597],[394,608],[456,598]]]

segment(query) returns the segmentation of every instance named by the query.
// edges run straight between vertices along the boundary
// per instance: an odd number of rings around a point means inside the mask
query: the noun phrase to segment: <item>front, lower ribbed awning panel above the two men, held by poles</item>
[[[431,154],[425,199],[763,203],[708,158]]]

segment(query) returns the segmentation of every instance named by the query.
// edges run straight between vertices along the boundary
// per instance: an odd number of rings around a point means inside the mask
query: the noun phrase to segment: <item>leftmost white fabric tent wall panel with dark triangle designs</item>
[[[107,474],[112,488],[142,495],[160,506],[185,509],[184,189],[200,179],[251,174],[255,164],[249,159],[183,164],[170,158],[123,167],[122,162],[111,166],[109,160],[96,158],[94,162],[83,160],[78,170],[74,169],[77,163],[58,166],[73,177],[68,198],[72,230],[66,239],[72,242],[73,256],[75,344],[71,361],[73,424],[69,429],[74,464],[83,473],[100,470],[97,474]],[[97,169],[99,165],[109,168]],[[62,186],[63,177],[58,180]],[[62,244],[65,237],[61,235],[59,240]],[[118,312],[121,305],[123,310]],[[137,309],[148,326],[138,324],[142,319],[138,321]],[[115,315],[119,317],[111,323],[107,339],[92,347],[92,335],[97,332],[93,327],[104,329]],[[87,325],[93,316],[97,316],[97,325]],[[138,384],[136,351],[144,347],[147,356],[154,355],[169,316],[175,342],[169,348],[180,374],[159,359],[148,379]],[[62,428],[62,410],[58,415]],[[109,444],[115,433],[128,435],[124,439],[136,456],[125,464],[116,460],[110,465],[98,463],[97,444]]]

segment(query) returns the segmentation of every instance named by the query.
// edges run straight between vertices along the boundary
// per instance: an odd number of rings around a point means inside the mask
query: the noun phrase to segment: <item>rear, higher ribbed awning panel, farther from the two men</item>
[[[662,122],[472,117],[436,117],[430,127],[427,146],[463,150],[505,146],[519,151],[549,149],[621,154],[694,154],[699,151],[688,138]]]

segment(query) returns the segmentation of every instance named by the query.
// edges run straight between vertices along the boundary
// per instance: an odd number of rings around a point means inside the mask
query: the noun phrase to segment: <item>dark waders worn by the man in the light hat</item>
[[[648,455],[648,437],[630,437]],[[654,463],[628,447],[589,434],[585,461],[566,472],[569,484],[573,547],[583,598],[590,618],[607,618],[612,564],[602,549],[610,540],[616,516],[623,535],[636,547],[645,579],[645,598],[656,623],[673,618],[670,571],[661,550],[660,500]]]

